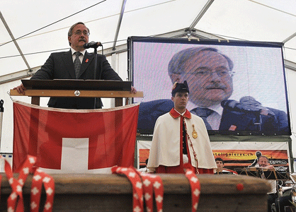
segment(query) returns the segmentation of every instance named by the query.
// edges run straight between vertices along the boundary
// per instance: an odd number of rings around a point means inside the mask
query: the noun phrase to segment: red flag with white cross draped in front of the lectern
[[[139,104],[65,110],[13,101],[13,172],[27,155],[55,170],[133,166],[138,112]]]

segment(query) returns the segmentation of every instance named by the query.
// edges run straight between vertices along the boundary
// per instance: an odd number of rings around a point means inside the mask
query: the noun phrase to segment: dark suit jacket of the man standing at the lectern
[[[94,56],[86,52],[81,63],[79,79],[94,79],[93,70]],[[31,79],[76,79],[71,50],[50,54],[45,64]],[[96,80],[98,79],[122,81],[118,73],[111,68],[106,57],[101,54],[97,55]],[[95,98],[50,98],[47,105],[67,109],[93,109],[94,100]],[[96,98],[96,108],[101,107],[101,99]]]

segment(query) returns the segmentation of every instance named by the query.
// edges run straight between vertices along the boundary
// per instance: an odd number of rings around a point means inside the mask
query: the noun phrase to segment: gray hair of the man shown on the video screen
[[[168,66],[168,71],[169,75],[171,76],[172,73],[185,73],[184,70],[184,64],[188,59],[191,59],[194,54],[197,54],[198,52],[205,52],[205,51],[212,51],[212,52],[217,52],[218,54],[221,54],[218,52],[218,49],[212,48],[212,47],[192,47],[188,49],[183,49],[180,52],[177,52],[176,54],[173,55],[171,60],[169,61],[169,66]],[[229,57],[227,57],[224,54],[221,54],[225,59],[227,59],[228,65],[229,65],[229,71],[232,73],[233,69],[233,62]]]

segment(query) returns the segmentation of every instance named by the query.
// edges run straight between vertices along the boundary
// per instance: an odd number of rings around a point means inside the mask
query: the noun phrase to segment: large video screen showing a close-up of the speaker
[[[133,86],[144,92],[138,131],[152,134],[173,108],[174,82],[187,81],[187,109],[209,134],[290,135],[283,44],[129,37]]]

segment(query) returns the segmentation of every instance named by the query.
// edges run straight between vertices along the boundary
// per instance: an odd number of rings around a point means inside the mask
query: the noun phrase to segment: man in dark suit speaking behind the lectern
[[[53,79],[94,79],[122,81],[108,63],[104,55],[97,55],[96,74],[94,71],[94,54],[86,52],[84,45],[89,43],[89,28],[82,22],[75,23],[69,29],[68,40],[71,49],[68,52],[56,52],[50,54],[31,79],[53,80]],[[94,77],[96,76],[96,78]],[[18,93],[25,94],[23,84],[13,88]],[[136,93],[131,88],[131,93]],[[48,107],[66,109],[93,109],[103,106],[100,98],[50,98]]]

